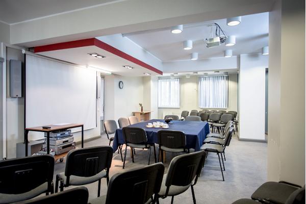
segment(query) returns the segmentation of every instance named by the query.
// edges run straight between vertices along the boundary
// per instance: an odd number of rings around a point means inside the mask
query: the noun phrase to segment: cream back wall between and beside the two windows
[[[237,74],[228,75],[228,111],[237,111],[238,82]],[[181,107],[159,108],[158,118],[163,118],[163,112],[181,113],[182,111],[200,110],[198,105],[198,77],[180,78],[181,80]],[[217,109],[216,109],[217,110]],[[224,109],[222,109],[224,110]]]

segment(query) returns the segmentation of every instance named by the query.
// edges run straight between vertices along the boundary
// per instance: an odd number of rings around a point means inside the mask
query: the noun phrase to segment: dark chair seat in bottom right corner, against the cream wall
[[[253,200],[258,200],[260,202],[287,204],[288,198],[294,192],[295,194],[296,193],[303,194],[304,202],[302,203],[305,203],[305,186],[301,187],[299,185],[291,184],[284,181],[264,183],[256,191],[254,191],[254,193],[251,195],[251,198]]]

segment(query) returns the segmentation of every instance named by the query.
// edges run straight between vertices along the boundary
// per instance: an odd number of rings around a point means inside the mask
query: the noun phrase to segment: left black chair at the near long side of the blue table
[[[147,143],[147,136],[146,136],[146,132],[144,129],[139,128],[139,127],[123,127],[122,132],[123,132],[123,139],[124,139],[124,144],[125,144],[125,152],[124,152],[123,166],[122,166],[123,169],[125,166],[127,146],[131,147],[131,156],[132,156],[133,163],[134,163],[133,148],[148,149],[148,165],[150,164],[151,146],[153,146],[155,162],[157,162],[155,144]]]

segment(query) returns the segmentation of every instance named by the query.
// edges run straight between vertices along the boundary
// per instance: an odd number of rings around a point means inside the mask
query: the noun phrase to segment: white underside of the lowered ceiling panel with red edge
[[[88,55],[88,53],[97,53],[106,56],[106,58],[92,57]],[[159,75],[154,71],[151,71],[131,61],[118,57],[117,55],[114,55],[94,45],[69,49],[59,49],[48,52],[41,52],[37,54],[83,66],[88,65],[92,67],[97,67],[106,71],[110,71],[114,74],[124,75],[128,77],[144,77],[144,73],[150,73],[151,75]],[[124,65],[132,66],[134,67],[134,69],[127,69],[122,67]]]

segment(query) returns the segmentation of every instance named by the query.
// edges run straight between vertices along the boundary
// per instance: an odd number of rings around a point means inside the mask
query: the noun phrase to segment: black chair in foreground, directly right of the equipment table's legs
[[[109,182],[109,171],[112,164],[113,148],[97,146],[75,149],[68,152],[65,172],[56,175],[55,192],[68,186],[82,186],[98,181],[100,196],[101,179]]]

